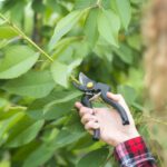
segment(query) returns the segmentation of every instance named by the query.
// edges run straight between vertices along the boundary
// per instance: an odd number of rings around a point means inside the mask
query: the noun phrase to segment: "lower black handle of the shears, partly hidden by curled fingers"
[[[92,108],[91,102],[89,101],[91,97],[88,95],[82,96],[81,104],[88,108]],[[100,129],[94,129],[94,136],[92,139],[98,141],[100,139]]]

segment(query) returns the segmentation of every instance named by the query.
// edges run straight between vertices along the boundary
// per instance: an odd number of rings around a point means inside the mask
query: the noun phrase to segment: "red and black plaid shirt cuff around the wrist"
[[[119,144],[114,155],[121,167],[156,167],[155,159],[141,137]]]

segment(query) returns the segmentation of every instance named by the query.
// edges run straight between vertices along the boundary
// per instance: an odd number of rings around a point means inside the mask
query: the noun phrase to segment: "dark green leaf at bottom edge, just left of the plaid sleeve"
[[[94,151],[88,153],[84,156],[77,164],[77,167],[101,167],[106,161],[108,156],[107,148],[100,148]]]

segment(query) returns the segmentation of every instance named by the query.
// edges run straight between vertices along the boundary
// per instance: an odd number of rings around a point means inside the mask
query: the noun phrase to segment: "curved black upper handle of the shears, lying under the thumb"
[[[101,98],[104,99],[105,102],[107,102],[108,105],[112,106],[115,109],[117,109],[117,111],[119,112],[121,120],[122,120],[122,125],[129,125],[129,119],[127,116],[126,110],[124,109],[124,107],[121,107],[118,102],[109,99],[105,94],[101,94]]]

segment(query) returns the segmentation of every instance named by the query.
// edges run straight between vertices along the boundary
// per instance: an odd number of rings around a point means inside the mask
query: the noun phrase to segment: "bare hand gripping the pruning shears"
[[[129,125],[124,126],[121,118],[116,109],[110,108],[87,108],[80,102],[76,102],[76,107],[79,109],[81,122],[85,125],[85,129],[91,135],[94,129],[100,129],[100,139],[105,143],[117,146],[128,139],[138,137],[139,134],[136,129],[134,118],[129,111],[129,108],[121,95],[115,95],[112,92],[107,94],[108,98],[121,105],[129,118]]]

